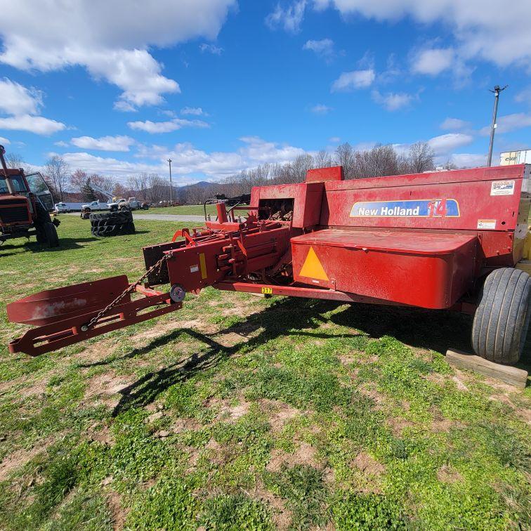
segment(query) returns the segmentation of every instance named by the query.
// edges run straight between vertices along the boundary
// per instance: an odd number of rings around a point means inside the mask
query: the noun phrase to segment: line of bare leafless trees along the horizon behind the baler
[[[315,155],[299,155],[284,164],[258,164],[217,183],[174,187],[173,199],[182,204],[200,204],[217,194],[235,197],[249,193],[253,186],[301,183],[309,169],[330,166],[343,166],[346,179],[422,173],[435,168],[434,158],[435,154],[426,142],[414,143],[407,151],[399,151],[389,144],[356,150],[346,142],[336,147],[334,152],[320,150]],[[6,162],[10,167],[25,166],[18,155],[8,155]],[[445,165],[447,169],[455,167],[450,162]],[[107,201],[97,188],[107,190],[116,197],[137,197],[152,203],[169,200],[169,183],[158,173],[138,173],[121,183],[116,178],[88,173],[83,169],[72,171],[60,155],[48,159],[42,173],[54,197],[60,201]]]

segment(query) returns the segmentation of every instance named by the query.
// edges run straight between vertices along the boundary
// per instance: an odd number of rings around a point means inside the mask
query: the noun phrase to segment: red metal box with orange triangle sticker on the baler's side
[[[310,232],[291,239],[294,280],[422,308],[450,308],[472,285],[476,235]]]

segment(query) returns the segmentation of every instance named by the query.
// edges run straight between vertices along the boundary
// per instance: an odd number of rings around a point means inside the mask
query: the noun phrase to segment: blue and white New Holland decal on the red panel
[[[412,199],[409,201],[364,201],[354,203],[351,218],[459,218],[455,199]]]

